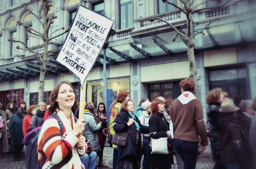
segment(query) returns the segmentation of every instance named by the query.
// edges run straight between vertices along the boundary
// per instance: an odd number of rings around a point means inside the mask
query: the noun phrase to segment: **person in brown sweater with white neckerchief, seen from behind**
[[[184,161],[185,169],[196,168],[199,137],[202,151],[208,145],[202,103],[193,95],[194,81],[180,82],[182,94],[172,102],[171,120],[174,127],[174,148]]]

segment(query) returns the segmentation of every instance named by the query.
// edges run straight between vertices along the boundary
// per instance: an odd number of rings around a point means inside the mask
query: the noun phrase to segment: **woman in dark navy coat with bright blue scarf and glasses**
[[[125,100],[122,110],[113,122],[115,132],[128,132],[127,146],[118,146],[117,168],[139,169],[141,161],[141,133],[149,133],[149,127],[140,124],[139,119],[133,114],[134,104],[132,100]]]

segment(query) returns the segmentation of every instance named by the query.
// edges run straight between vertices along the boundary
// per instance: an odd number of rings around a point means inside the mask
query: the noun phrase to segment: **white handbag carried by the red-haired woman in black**
[[[169,154],[167,147],[167,137],[161,137],[158,139],[151,138],[149,146],[151,147],[151,154]]]

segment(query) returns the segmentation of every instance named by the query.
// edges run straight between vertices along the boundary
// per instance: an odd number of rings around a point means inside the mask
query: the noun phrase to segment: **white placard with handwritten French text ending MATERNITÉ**
[[[83,86],[114,21],[79,5],[57,61],[76,75]]]

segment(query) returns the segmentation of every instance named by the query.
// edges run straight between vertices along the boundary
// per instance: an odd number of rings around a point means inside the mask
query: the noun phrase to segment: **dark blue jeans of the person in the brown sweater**
[[[183,162],[184,169],[195,169],[198,153],[198,142],[184,141],[179,139],[172,139],[173,146],[180,154]]]

